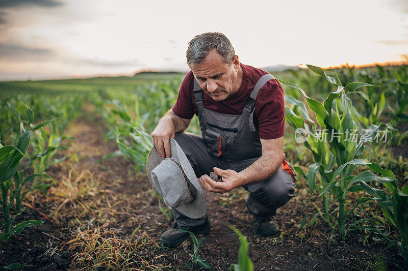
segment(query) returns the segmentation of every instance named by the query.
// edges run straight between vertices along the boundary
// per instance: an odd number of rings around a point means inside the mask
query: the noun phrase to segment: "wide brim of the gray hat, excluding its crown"
[[[171,158],[178,161],[182,166],[184,172],[186,173],[191,184],[197,190],[195,199],[187,204],[175,208],[177,211],[189,218],[201,218],[207,213],[207,200],[202,192],[201,186],[198,182],[198,178],[195,175],[193,167],[188,161],[186,155],[184,154],[180,145],[173,139],[170,138],[170,152]],[[163,161],[163,158],[158,154],[156,146],[153,146],[147,156],[146,171],[147,176],[151,181],[151,171],[158,166]]]

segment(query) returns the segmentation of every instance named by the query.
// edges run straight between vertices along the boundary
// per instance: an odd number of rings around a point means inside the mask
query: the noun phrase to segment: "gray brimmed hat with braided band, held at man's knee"
[[[182,148],[172,138],[170,152],[171,157],[163,159],[153,146],[147,156],[147,176],[170,209],[189,218],[205,216],[207,201],[198,178]]]

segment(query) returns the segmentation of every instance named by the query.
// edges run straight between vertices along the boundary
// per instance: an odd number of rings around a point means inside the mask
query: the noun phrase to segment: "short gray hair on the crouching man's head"
[[[211,49],[216,48],[224,63],[231,64],[235,50],[230,40],[220,32],[209,32],[195,36],[188,43],[186,52],[187,64],[202,64]]]

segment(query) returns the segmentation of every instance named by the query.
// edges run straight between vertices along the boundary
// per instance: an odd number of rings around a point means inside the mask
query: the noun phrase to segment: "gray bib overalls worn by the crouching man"
[[[239,172],[262,156],[259,133],[253,124],[253,111],[260,88],[270,79],[273,79],[271,74],[259,79],[241,115],[219,113],[203,107],[202,89],[194,79],[193,95],[202,137],[176,133],[174,139],[182,147],[197,177],[210,175],[215,166]],[[295,193],[294,179],[282,166],[263,182],[243,187],[250,192],[246,203],[249,213],[263,221],[276,215],[276,209],[287,203]],[[198,226],[206,220],[206,216],[191,219],[176,210],[173,214],[177,226],[182,229]]]

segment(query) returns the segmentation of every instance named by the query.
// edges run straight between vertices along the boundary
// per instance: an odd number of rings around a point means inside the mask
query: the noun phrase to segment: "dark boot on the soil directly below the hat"
[[[170,248],[179,246],[184,242],[184,240],[190,237],[190,234],[188,232],[181,232],[177,229],[179,229],[179,227],[177,226],[177,223],[174,223],[171,229],[163,232],[163,234],[160,236],[160,241],[164,246]],[[206,222],[203,225],[189,227],[186,230],[191,231],[194,234],[208,234],[211,230],[210,222],[208,221],[208,219],[206,219]]]

